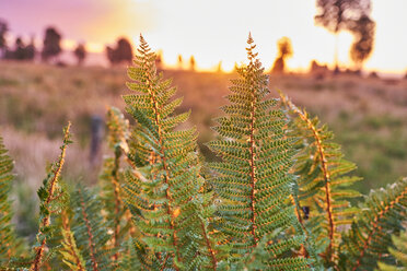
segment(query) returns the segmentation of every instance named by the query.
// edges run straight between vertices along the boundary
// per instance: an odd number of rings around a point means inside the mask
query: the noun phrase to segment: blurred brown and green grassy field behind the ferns
[[[16,161],[18,180],[28,180],[33,189],[39,186],[46,162],[58,155],[62,126],[71,120],[75,143],[68,150],[65,176],[96,181],[98,166],[88,163],[90,120],[104,117],[108,106],[124,109],[126,69],[0,62],[0,132]],[[201,150],[213,158],[202,143],[213,137],[212,118],[235,75],[168,70],[164,76],[173,78],[184,96],[182,109],[193,109],[187,125],[198,127]],[[346,157],[358,164],[363,192],[407,176],[407,81],[283,75],[271,76],[270,89],[272,95],[282,90],[328,123]],[[103,146],[101,155],[106,153]]]

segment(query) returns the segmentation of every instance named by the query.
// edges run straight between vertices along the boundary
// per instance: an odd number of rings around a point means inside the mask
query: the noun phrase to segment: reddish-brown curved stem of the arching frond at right
[[[312,133],[314,136],[314,139],[315,139],[316,149],[317,149],[319,160],[321,160],[321,167],[322,167],[323,175],[324,175],[325,201],[326,201],[326,209],[325,210],[326,210],[326,216],[327,216],[328,224],[329,224],[328,237],[329,237],[330,241],[329,241],[329,246],[327,247],[326,255],[327,255],[327,259],[329,261],[333,261],[334,243],[335,243],[335,238],[334,238],[335,223],[334,223],[334,215],[333,215],[333,209],[332,209],[330,174],[329,174],[329,169],[328,169],[327,160],[325,157],[324,148],[322,145],[322,139],[319,137],[318,130],[312,123],[310,118],[301,109],[299,109],[294,104],[292,104],[290,99],[288,99],[284,95],[282,95],[282,93],[280,93],[280,97],[283,101],[283,103],[286,103],[289,106],[289,108],[291,110],[293,110],[296,115],[299,115],[300,118],[306,123],[307,128],[312,131]]]

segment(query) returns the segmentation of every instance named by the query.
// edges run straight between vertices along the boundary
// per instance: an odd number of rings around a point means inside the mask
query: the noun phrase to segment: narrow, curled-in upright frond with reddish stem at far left
[[[70,140],[70,127],[63,129],[63,143],[58,161],[51,165],[47,178],[44,179],[43,186],[38,189],[39,204],[39,229],[37,234],[37,243],[34,245],[34,260],[30,270],[38,271],[44,262],[47,238],[53,236],[55,228],[51,225],[51,216],[59,214],[67,205],[67,193],[59,185],[59,178],[65,164],[65,155]],[[51,254],[48,252],[50,256]],[[49,257],[48,257],[49,258]]]

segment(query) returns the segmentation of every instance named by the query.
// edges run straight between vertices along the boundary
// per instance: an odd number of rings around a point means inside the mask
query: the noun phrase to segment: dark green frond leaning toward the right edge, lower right
[[[344,236],[342,270],[373,270],[377,260],[391,260],[391,236],[404,229],[402,222],[407,215],[407,178],[372,191],[361,210]]]

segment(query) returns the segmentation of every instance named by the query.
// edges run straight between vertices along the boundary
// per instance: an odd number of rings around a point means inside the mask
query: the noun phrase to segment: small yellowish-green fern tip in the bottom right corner
[[[392,236],[395,248],[388,248],[391,255],[396,259],[397,266],[389,266],[384,262],[379,262],[379,270],[381,271],[406,271],[407,270],[407,232],[400,233],[399,236]]]

